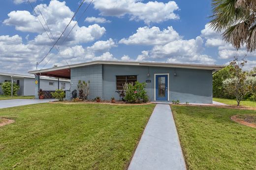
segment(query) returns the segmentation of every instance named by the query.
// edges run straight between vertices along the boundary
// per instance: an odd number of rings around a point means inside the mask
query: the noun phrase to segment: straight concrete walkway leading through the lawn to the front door
[[[168,104],[157,104],[128,170],[186,170],[176,126]]]

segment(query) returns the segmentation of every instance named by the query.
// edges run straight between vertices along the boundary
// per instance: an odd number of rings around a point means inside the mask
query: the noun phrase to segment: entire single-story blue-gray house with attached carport
[[[224,68],[217,65],[172,64],[153,62],[93,61],[30,71],[39,75],[70,78],[70,93],[78,80],[90,80],[90,95],[109,100],[119,99],[125,82],[146,82],[151,101],[212,103],[212,73]],[[40,87],[36,85],[36,90]],[[70,99],[71,95],[66,95]],[[35,96],[37,98],[37,96]]]

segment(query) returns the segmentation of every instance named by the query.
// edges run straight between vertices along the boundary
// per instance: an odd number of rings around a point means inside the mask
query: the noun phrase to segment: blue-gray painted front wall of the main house
[[[150,74],[149,77],[147,74]],[[128,65],[92,65],[71,69],[71,92],[77,90],[78,80],[90,80],[90,99],[96,96],[119,99],[116,75],[137,75],[137,81],[146,83],[150,101],[155,101],[155,74],[169,74],[169,102],[212,103],[212,71],[167,67]],[[174,75],[176,73],[176,76]]]

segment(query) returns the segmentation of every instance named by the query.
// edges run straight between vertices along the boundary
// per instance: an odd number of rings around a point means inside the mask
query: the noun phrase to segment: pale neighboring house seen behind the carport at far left
[[[11,73],[0,73],[0,83],[9,81],[13,79],[14,83],[17,83],[20,86],[20,89],[17,92],[18,96],[34,96],[35,95],[35,80],[33,75],[20,75],[20,74],[11,74]],[[58,89],[58,78],[47,78],[40,77],[40,86],[44,91],[54,91]],[[69,90],[70,80],[60,79],[59,88],[64,90]],[[0,95],[3,95],[3,92],[0,88]]]

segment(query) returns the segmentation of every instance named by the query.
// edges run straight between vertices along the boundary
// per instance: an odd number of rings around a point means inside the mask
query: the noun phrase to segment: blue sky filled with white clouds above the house
[[[54,39],[82,0],[31,0],[41,10]],[[81,20],[89,0],[85,0],[57,48],[39,69],[92,60],[155,61],[223,65],[238,52],[226,44],[207,23],[211,0],[94,0]],[[38,6],[37,6],[38,5]],[[44,24],[43,18],[39,20]],[[27,0],[4,0],[0,6],[0,72],[27,73],[35,69],[52,42]],[[248,53],[247,69],[256,65],[255,52]],[[47,61],[49,62],[47,63]],[[46,64],[47,63],[47,64]]]

